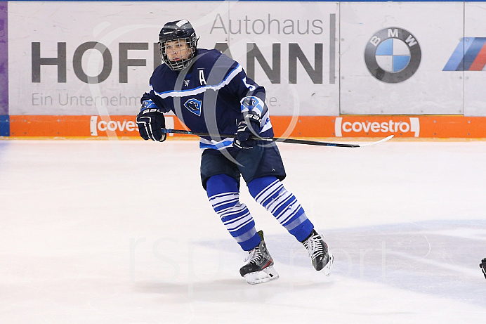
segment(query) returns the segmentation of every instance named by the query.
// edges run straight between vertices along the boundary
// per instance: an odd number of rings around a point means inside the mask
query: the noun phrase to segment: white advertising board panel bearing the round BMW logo
[[[341,3],[341,114],[462,114],[464,79],[442,69],[463,35],[463,6]]]

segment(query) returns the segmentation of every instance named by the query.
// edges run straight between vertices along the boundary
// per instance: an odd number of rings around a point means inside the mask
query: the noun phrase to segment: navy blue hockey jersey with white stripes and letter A
[[[159,65],[150,77],[150,91],[141,101],[150,101],[162,112],[172,111],[191,131],[236,134],[242,98],[256,96],[265,101],[265,89],[247,77],[235,60],[216,50],[198,48],[193,64],[173,71]],[[150,104],[151,104],[150,103]],[[261,136],[273,136],[268,108],[261,113]],[[202,137],[200,148],[231,147],[232,138]]]

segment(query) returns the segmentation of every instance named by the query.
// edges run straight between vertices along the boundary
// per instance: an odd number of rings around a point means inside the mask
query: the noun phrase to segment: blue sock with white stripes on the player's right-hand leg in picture
[[[248,183],[256,202],[265,207],[299,241],[310,235],[314,225],[297,198],[287,191],[275,176],[264,176]]]

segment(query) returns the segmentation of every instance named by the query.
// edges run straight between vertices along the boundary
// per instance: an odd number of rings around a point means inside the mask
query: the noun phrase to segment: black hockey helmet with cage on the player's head
[[[187,58],[178,61],[171,61],[167,57],[166,42],[167,41],[185,41],[190,48],[190,53]],[[197,51],[197,37],[194,28],[188,20],[176,20],[167,22],[159,33],[159,50],[162,62],[169,65],[171,70],[183,70],[190,64],[192,58],[196,56]]]

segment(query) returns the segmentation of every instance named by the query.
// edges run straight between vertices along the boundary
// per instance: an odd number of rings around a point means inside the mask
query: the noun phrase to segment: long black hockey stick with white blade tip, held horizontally
[[[198,133],[197,131],[185,131],[182,129],[162,129],[162,132],[170,134],[186,134],[186,135],[197,135],[197,136],[211,136],[219,138],[236,138],[234,134],[209,134],[209,133]],[[267,142],[282,142],[282,143],[295,143],[295,144],[306,144],[306,145],[320,145],[320,146],[336,146],[338,148],[362,148],[363,146],[375,145],[383,143],[392,138],[390,135],[376,142],[364,143],[364,144],[344,144],[344,143],[329,143],[320,141],[308,141],[294,138],[279,138],[279,137],[256,137],[250,136],[249,139],[254,141],[267,141]]]

